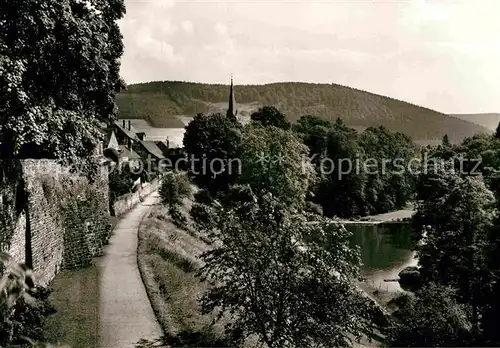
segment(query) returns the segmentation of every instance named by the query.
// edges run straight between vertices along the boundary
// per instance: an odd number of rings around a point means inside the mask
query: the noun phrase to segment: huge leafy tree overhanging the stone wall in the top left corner
[[[123,0],[3,1],[0,150],[3,157],[86,156],[123,89],[117,21]]]

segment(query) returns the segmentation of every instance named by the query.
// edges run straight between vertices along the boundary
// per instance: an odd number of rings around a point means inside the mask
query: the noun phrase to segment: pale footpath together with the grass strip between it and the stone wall
[[[139,225],[157,201],[152,193],[119,220],[104,256],[56,276],[50,300],[57,313],[47,319],[47,341],[72,348],[133,348],[163,336],[137,265]]]

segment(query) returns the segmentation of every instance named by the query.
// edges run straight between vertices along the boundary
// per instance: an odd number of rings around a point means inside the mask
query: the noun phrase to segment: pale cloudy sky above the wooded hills
[[[127,83],[337,83],[500,112],[500,0],[125,0]],[[237,98],[237,89],[236,89]]]

